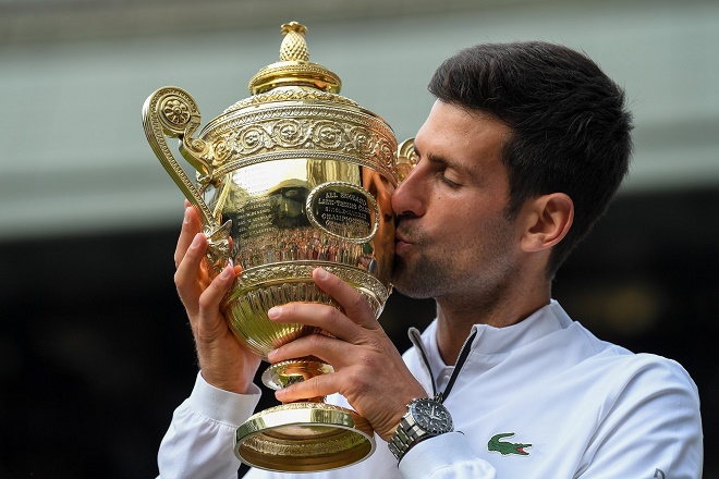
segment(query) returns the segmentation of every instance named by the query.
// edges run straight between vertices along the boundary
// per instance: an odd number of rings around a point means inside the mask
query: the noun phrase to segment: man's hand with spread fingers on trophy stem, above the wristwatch
[[[334,337],[303,336],[270,352],[269,359],[278,363],[312,355],[332,365],[334,372],[292,384],[276,396],[287,403],[339,392],[389,441],[406,405],[427,393],[404,365],[362,294],[322,269],[316,269],[313,277],[345,314],[328,305],[290,303],[270,309],[268,316],[277,322],[318,327]]]

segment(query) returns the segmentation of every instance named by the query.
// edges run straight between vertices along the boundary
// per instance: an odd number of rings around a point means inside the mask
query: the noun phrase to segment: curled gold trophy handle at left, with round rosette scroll
[[[220,224],[197,187],[175,160],[166,140],[166,136],[180,138],[180,153],[199,173],[198,182],[204,185],[214,182],[212,164],[208,161],[209,147],[204,140],[192,137],[199,127],[199,108],[195,99],[182,88],[159,88],[147,97],[143,105],[143,126],[147,142],[185,198],[199,211],[203,233],[209,240],[207,260],[210,268],[219,272],[230,257],[231,222]]]

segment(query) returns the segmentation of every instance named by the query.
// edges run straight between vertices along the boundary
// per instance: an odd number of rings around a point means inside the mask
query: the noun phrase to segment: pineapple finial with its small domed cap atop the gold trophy
[[[288,86],[340,93],[340,77],[326,66],[309,61],[306,32],[307,27],[297,22],[282,25],[284,38],[280,47],[280,61],[265,66],[249,79],[248,89],[252,95]]]

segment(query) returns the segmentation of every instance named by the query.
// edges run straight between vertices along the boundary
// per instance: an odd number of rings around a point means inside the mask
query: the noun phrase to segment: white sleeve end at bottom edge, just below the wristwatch
[[[472,453],[461,432],[449,432],[412,447],[400,462],[405,479],[495,479],[495,468]]]

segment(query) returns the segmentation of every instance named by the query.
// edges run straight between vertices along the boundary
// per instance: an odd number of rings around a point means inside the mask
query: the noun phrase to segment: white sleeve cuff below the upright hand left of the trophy
[[[255,410],[261,392],[255,384],[252,384],[247,394],[215,388],[205,381],[200,371],[185,405],[215,421],[237,427]]]

